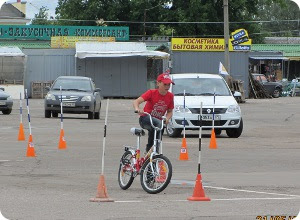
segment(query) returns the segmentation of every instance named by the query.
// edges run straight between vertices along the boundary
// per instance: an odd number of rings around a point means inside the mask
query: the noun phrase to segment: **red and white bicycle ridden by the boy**
[[[145,131],[142,128],[130,129],[130,132],[137,136],[137,146],[125,146],[125,153],[120,160],[118,182],[121,189],[126,190],[131,186],[134,178],[140,174],[142,188],[147,193],[156,194],[163,191],[170,183],[172,164],[166,156],[160,153],[162,140],[157,138],[158,132],[163,130],[165,118],[159,128],[153,125],[152,116],[146,112],[145,114],[149,115],[151,126],[154,128],[154,145],[145,157],[141,157],[140,139],[145,135]]]

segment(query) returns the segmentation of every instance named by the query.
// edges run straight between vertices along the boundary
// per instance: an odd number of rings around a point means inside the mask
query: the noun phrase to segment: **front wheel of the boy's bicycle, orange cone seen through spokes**
[[[153,171],[151,168],[153,167]],[[170,160],[163,155],[156,155],[144,163],[141,169],[141,185],[143,189],[150,194],[156,194],[163,191],[172,178],[172,164]]]

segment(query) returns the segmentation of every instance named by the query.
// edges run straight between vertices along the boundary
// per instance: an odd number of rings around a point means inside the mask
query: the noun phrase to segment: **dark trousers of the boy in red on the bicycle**
[[[139,119],[140,126],[146,130],[148,130],[148,144],[146,145],[146,151],[148,152],[154,144],[154,128],[151,126],[150,116],[145,115],[141,116]],[[161,127],[161,120],[152,117],[152,123],[155,127]],[[158,132],[156,138],[161,139],[162,132]]]

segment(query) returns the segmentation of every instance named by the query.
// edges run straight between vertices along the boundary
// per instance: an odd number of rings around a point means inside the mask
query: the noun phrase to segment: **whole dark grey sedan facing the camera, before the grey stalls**
[[[62,90],[62,96],[60,92]],[[45,97],[45,118],[58,117],[62,97],[63,113],[88,114],[99,119],[101,110],[100,89],[91,78],[81,76],[58,77]]]

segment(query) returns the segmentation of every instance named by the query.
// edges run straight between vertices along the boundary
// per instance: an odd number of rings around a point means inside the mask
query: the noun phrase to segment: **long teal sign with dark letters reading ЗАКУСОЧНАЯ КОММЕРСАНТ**
[[[0,25],[0,39],[50,40],[55,36],[115,37],[117,41],[127,41],[129,27]]]

